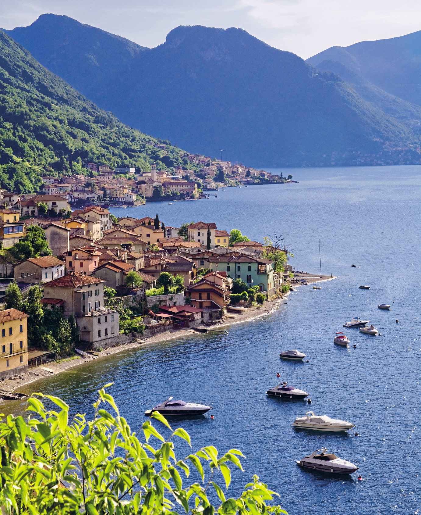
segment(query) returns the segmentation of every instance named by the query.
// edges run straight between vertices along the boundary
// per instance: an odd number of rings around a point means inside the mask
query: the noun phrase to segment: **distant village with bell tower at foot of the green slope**
[[[159,145],[164,147],[165,145]],[[164,159],[164,157],[161,157]],[[85,175],[52,175],[42,177],[39,194],[3,192],[0,202],[4,207],[24,207],[23,216],[38,216],[42,212],[51,217],[66,214],[63,199],[73,207],[94,204],[103,207],[126,207],[163,200],[193,200],[206,198],[208,191],[220,187],[287,183],[292,175],[272,175],[230,161],[219,161],[205,156],[187,155],[185,164],[169,168],[160,160],[148,164],[148,171],[136,168],[112,168],[106,164],[85,163]],[[47,208],[47,209],[46,209]]]

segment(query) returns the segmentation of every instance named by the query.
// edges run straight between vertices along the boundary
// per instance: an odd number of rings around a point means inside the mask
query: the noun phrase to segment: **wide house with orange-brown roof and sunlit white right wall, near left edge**
[[[14,278],[23,283],[47,283],[65,274],[65,263],[55,256],[29,258],[13,267]]]

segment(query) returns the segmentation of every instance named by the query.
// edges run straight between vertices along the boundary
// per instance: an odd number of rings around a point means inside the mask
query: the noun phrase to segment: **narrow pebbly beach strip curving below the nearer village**
[[[301,274],[300,274],[301,275]],[[303,277],[308,276],[309,274],[304,274]],[[307,277],[308,284],[316,283],[316,282],[326,282],[332,281],[334,279],[338,279],[336,276],[322,276],[320,277]],[[293,285],[294,290],[303,286],[303,284]],[[285,303],[291,292],[287,291],[287,293],[276,297],[272,300],[265,301],[261,306],[249,307],[247,311],[244,313],[229,313],[225,314],[220,321],[216,321],[213,325],[202,325],[200,329],[207,329],[212,331],[213,329],[221,330],[227,328],[231,325],[235,325],[243,322],[250,322],[255,320],[256,318],[263,317],[274,313],[279,307]],[[150,338],[143,338],[142,336],[139,338],[134,338],[128,344],[117,345],[115,347],[110,347],[108,349],[104,349],[103,351],[98,353],[97,357],[83,357],[83,356],[72,356],[70,358],[64,358],[61,363],[58,362],[50,362],[46,365],[39,366],[37,368],[28,369],[26,372],[19,374],[19,377],[16,379],[6,379],[5,381],[0,382],[0,388],[7,392],[13,392],[23,386],[27,386],[31,383],[35,383],[40,379],[45,379],[45,377],[59,374],[61,372],[66,372],[68,369],[72,369],[74,367],[82,366],[85,363],[90,363],[95,359],[104,359],[107,356],[112,354],[117,354],[118,352],[128,351],[132,349],[138,349],[140,346],[146,346],[147,344],[156,344],[162,341],[171,340],[177,337],[185,337],[192,334],[200,335],[206,334],[200,331],[196,331],[195,328],[188,329],[171,329],[166,331],[165,333],[160,333],[155,336],[151,336]],[[31,393],[36,391],[35,388],[32,389]],[[5,405],[9,400],[0,399],[0,406]]]

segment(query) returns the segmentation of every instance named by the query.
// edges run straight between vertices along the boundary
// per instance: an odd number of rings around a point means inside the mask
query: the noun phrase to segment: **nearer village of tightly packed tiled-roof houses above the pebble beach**
[[[72,212],[66,199],[56,202],[67,216],[22,219],[27,201],[0,210],[3,381],[71,359],[75,348],[95,353],[166,331],[203,331],[290,289],[280,238],[262,244],[209,221],[171,227],[158,215],[116,218],[107,208]]]

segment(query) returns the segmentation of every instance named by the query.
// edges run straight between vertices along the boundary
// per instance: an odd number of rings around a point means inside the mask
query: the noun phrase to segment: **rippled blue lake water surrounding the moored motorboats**
[[[217,198],[114,213],[159,213],[165,225],[178,227],[183,221],[216,222],[219,229],[239,228],[259,241],[282,233],[294,249],[290,264],[310,272],[319,270],[320,238],[322,272],[338,279],[322,283],[321,290],[300,287],[274,314],[232,325],[227,335],[191,335],[122,352],[42,380],[37,389],[62,397],[75,412],[90,413],[96,390],[114,381],[110,392],[132,430],[144,422],[145,409],[171,394],[212,404],[214,421],[205,416],[178,423],[195,450],[213,443],[220,452],[243,451],[244,472],[233,471],[229,496],[239,495],[257,474],[291,514],[417,513],[421,167],[282,171],[299,183],[225,188]],[[360,290],[360,284],[372,289]],[[383,302],[391,312],[378,310]],[[353,316],[372,321],[381,336],[345,330],[342,323]],[[333,344],[342,330],[351,340],[348,349]],[[304,351],[309,363],[281,362],[280,351],[289,349]],[[311,406],[267,398],[266,390],[279,382],[276,372],[308,391]],[[8,406],[22,409],[20,403]],[[357,427],[349,434],[293,430],[291,423],[307,409]],[[188,454],[181,442],[178,458]],[[363,479],[296,466],[323,447],[356,460]]]

